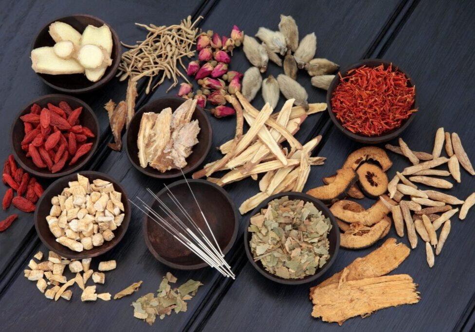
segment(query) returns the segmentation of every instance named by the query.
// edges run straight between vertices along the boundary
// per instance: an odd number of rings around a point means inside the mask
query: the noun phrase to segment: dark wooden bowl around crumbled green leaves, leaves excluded
[[[272,201],[276,198],[281,198],[283,196],[289,196],[289,199],[291,199],[291,200],[301,199],[304,202],[311,202],[311,203],[313,203],[313,205],[318,210],[322,211],[322,214],[324,216],[326,216],[330,219],[330,222],[331,222],[331,225],[332,225],[332,227],[330,229],[330,233],[328,235],[328,239],[329,239],[329,243],[330,243],[330,247],[329,247],[330,259],[325,265],[323,265],[321,268],[317,269],[313,276],[308,276],[308,277],[305,277],[305,278],[302,278],[302,279],[284,279],[284,278],[280,278],[280,277],[277,277],[276,275],[266,271],[266,269],[262,266],[261,262],[255,262],[254,261],[254,256],[253,256],[253,254],[251,252],[251,248],[249,246],[249,242],[251,241],[252,233],[247,231],[247,229],[249,228],[249,225],[251,224],[251,217],[255,216],[257,213],[259,213],[261,209],[267,208],[270,201]],[[340,248],[340,230],[339,230],[338,225],[335,221],[335,217],[333,216],[333,213],[330,212],[329,208],[327,208],[327,206],[325,204],[323,204],[322,201],[316,199],[315,197],[307,195],[306,193],[303,193],[303,192],[281,192],[281,193],[277,193],[275,195],[272,195],[271,197],[264,200],[249,215],[249,217],[247,219],[247,222],[246,222],[246,232],[244,233],[244,248],[246,250],[246,255],[247,255],[247,258],[249,259],[249,262],[251,262],[251,264],[256,268],[256,270],[261,275],[266,277],[267,279],[270,279],[272,281],[282,283],[282,284],[285,284],[285,285],[300,285],[300,284],[303,284],[303,283],[307,283],[307,282],[317,280],[330,268],[330,266],[333,264],[333,262],[335,262],[336,257],[338,255],[338,250]]]

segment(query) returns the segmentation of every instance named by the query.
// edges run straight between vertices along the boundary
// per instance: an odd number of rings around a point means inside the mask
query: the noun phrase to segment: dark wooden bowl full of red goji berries
[[[74,173],[91,159],[99,122],[80,99],[50,94],[29,103],[11,129],[15,159],[27,172],[46,178]]]

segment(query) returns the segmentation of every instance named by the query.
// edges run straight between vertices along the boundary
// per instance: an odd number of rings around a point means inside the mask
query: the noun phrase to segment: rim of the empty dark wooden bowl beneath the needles
[[[172,189],[173,187],[176,187],[176,186],[181,185],[183,183],[185,183],[184,179],[183,180],[178,180],[178,181],[175,181],[175,182],[171,183],[170,185],[168,185],[168,188]],[[233,213],[234,213],[234,229],[233,229],[233,234],[231,235],[231,239],[229,240],[229,243],[224,247],[224,249],[222,249],[222,253],[224,255],[226,255],[229,252],[229,250],[231,250],[234,243],[236,242],[237,232],[239,230],[239,227],[238,227],[239,226],[238,225],[239,224],[239,216],[238,216],[238,213],[237,213],[237,208],[234,205],[234,203],[231,199],[231,196],[229,196],[229,194],[224,189],[222,189],[218,185],[216,185],[216,184],[214,184],[214,183],[212,183],[208,180],[188,179],[188,183],[190,183],[190,185],[191,185],[191,183],[201,183],[201,184],[204,184],[204,185],[209,185],[209,186],[213,187],[214,189],[218,190],[224,196],[224,198],[226,198],[226,200],[229,202],[229,204],[231,206],[231,209],[233,210]],[[162,195],[164,192],[166,192],[166,188],[163,188],[162,190],[157,192],[156,195],[158,197],[160,197],[160,195]],[[193,264],[193,265],[182,265],[182,264],[177,264],[177,263],[170,262],[170,261],[164,259],[162,256],[159,255],[159,253],[155,250],[153,245],[148,240],[148,236],[147,236],[147,232],[148,232],[147,220],[148,220],[148,217],[145,215],[143,220],[144,220],[143,230],[144,230],[144,237],[145,237],[146,245],[148,247],[148,250],[152,253],[152,255],[159,262],[161,262],[161,263],[163,263],[163,264],[165,264],[165,265],[167,265],[171,268],[177,269],[177,270],[197,270],[197,269],[201,269],[203,267],[209,266],[205,262],[202,262],[202,263],[199,263],[199,264]]]

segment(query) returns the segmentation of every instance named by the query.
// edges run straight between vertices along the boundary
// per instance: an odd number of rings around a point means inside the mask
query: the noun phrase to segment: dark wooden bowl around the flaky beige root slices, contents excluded
[[[126,152],[132,165],[134,165],[134,167],[143,174],[155,177],[157,179],[170,179],[182,176],[182,172],[180,172],[180,170],[172,169],[162,173],[150,166],[147,166],[146,168],[140,166],[137,136],[139,134],[140,121],[142,120],[142,114],[144,114],[144,112],[160,113],[166,107],[171,107],[172,111],[175,111],[175,109],[182,105],[183,102],[185,102],[185,99],[181,97],[162,97],[156,99],[141,107],[130,121],[126,133]],[[211,142],[213,138],[211,123],[209,122],[208,115],[201,107],[196,106],[192,120],[198,120],[200,125],[200,133],[198,134],[199,142],[193,147],[193,152],[191,155],[186,158],[187,164],[183,168],[184,174],[193,172],[201,165],[201,163],[204,161],[204,158],[206,158],[209,150],[211,149]]]

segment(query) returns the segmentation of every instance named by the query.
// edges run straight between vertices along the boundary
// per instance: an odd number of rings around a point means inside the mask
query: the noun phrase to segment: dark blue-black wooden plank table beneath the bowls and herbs
[[[280,14],[292,15],[301,35],[315,32],[318,57],[340,65],[362,58],[378,57],[393,61],[408,72],[417,86],[420,111],[403,133],[404,140],[415,150],[431,151],[438,127],[457,132],[475,161],[475,4],[471,1],[2,1],[0,6],[0,129],[3,144],[0,160],[10,154],[9,128],[17,112],[30,100],[54,91],[45,86],[30,68],[29,48],[37,30],[48,20],[69,14],[85,13],[103,18],[132,43],[144,36],[134,22],[156,25],[174,24],[190,14],[202,15],[201,27],[229,34],[237,24],[245,33],[254,34],[259,26],[276,29]],[[234,70],[244,71],[249,63],[241,50],[235,52]],[[271,66],[269,73],[279,70]],[[309,91],[309,101],[325,101],[325,92],[310,86],[307,75],[298,81]],[[146,95],[139,89],[137,107],[165,95],[168,83]],[[101,124],[101,145],[87,169],[105,172],[122,182],[130,197],[145,196],[146,187],[158,190],[160,181],[142,175],[129,163],[123,151],[107,148],[111,140],[107,113],[103,105],[110,98],[122,100],[126,85],[113,80],[103,89],[81,95],[95,110]],[[176,90],[170,94],[176,93]],[[279,104],[281,105],[282,102]],[[263,105],[257,99],[255,105]],[[234,135],[234,119],[211,117],[213,146]],[[297,138],[306,142],[322,134],[323,141],[314,155],[327,157],[325,166],[312,168],[305,187],[321,184],[321,177],[332,174],[347,154],[359,147],[332,126],[325,113],[309,117]],[[212,149],[206,162],[219,157]],[[394,165],[389,175],[407,162],[391,155]],[[43,182],[48,185],[48,182]],[[475,180],[465,171],[462,183],[450,193],[464,199],[474,191]],[[257,184],[245,180],[225,189],[237,206],[258,191]],[[1,189],[2,193],[5,189]],[[366,205],[370,202],[365,202]],[[9,210],[8,213],[11,211]],[[473,211],[464,222],[453,221],[452,231],[436,264],[429,269],[422,245],[398,268],[419,284],[421,300],[417,305],[389,308],[365,319],[353,318],[342,327],[311,318],[309,285],[283,286],[264,279],[248,263],[243,250],[242,234],[246,216],[240,220],[239,236],[227,260],[237,275],[235,281],[221,277],[215,270],[171,270],[179,281],[201,280],[204,286],[188,304],[188,311],[157,321],[159,331],[469,331],[475,326],[475,250]],[[0,211],[0,220],[7,212]],[[101,260],[115,259],[117,269],[107,276],[107,289],[114,294],[126,285],[143,280],[138,293],[118,301],[83,303],[76,290],[70,302],[47,300],[34,282],[23,278],[23,269],[37,252],[47,252],[36,235],[31,214],[20,213],[19,220],[0,233],[0,330],[35,331],[150,331],[148,325],[132,316],[130,303],[139,296],[154,292],[170,268],[157,262],[148,252],[142,234],[142,215],[133,210],[131,225],[122,242]],[[390,236],[396,236],[391,230]],[[401,239],[407,243],[407,240]],[[341,250],[337,262],[326,277],[339,271],[362,251]],[[99,262],[95,260],[92,268]]]

